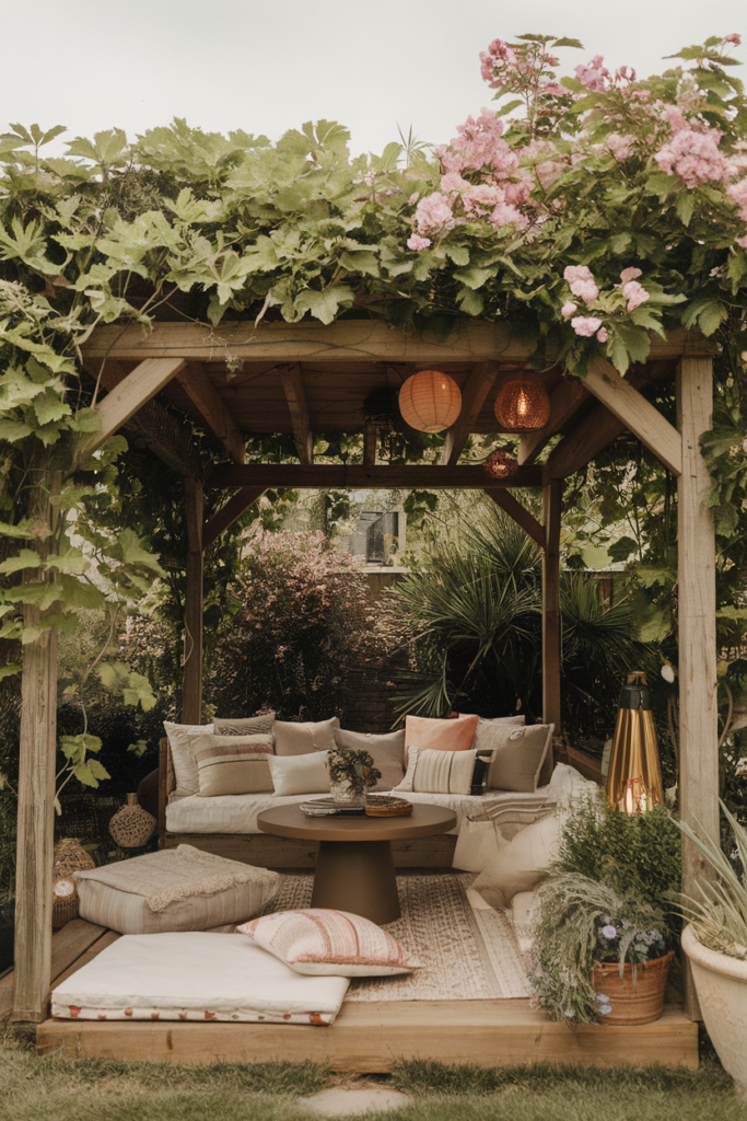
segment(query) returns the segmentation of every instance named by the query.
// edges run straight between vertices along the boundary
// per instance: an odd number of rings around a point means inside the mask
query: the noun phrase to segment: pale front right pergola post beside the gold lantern
[[[676,381],[678,427],[682,433],[682,474],[678,479],[680,813],[689,825],[718,840],[716,532],[706,506],[710,479],[699,444],[711,427],[711,359],[681,359]],[[684,840],[682,890],[697,893],[698,881],[710,874],[698,850]],[[700,1018],[689,967],[685,1011],[692,1019]]]

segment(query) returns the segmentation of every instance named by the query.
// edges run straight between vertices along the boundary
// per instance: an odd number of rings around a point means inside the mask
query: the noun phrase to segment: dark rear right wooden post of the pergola
[[[542,720],[560,732],[560,515],[563,480],[542,488],[544,552],[542,555]]]

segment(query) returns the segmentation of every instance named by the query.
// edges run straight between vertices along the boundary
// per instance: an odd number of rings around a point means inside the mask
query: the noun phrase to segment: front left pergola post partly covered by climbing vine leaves
[[[50,482],[39,469],[29,517],[50,522]],[[46,541],[37,541],[39,555]],[[27,581],[44,578],[29,571]],[[27,627],[38,626],[38,606],[24,608]],[[52,973],[52,864],[55,832],[57,748],[57,630],[43,631],[24,646],[18,768],[18,859],[16,868],[16,962],[12,1019],[39,1023],[46,1018]]]

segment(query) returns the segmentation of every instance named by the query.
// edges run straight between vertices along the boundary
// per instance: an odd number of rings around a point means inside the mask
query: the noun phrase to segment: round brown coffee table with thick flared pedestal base
[[[363,915],[382,926],[399,918],[392,841],[448,833],[457,816],[441,806],[412,807],[407,817],[307,817],[298,806],[258,815],[263,833],[318,841],[312,907]]]

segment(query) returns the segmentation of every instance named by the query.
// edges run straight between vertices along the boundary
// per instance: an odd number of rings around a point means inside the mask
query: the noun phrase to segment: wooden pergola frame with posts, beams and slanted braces
[[[563,480],[624,432],[636,436],[676,476],[679,492],[680,807],[682,817],[718,835],[715,532],[704,504],[709,485],[699,438],[711,426],[713,346],[697,333],[652,337],[645,365],[622,378],[604,360],[582,380],[564,379],[560,365],[532,372],[532,340],[514,339],[502,324],[463,323],[440,341],[411,336],[381,322],[222,324],[215,332],[190,323],[97,328],[84,346],[84,364],[99,380],[101,430],[81,448],[83,461],[108,437],[131,429],[185,479],[189,529],[185,665],[185,723],[202,712],[203,556],[205,549],[268,488],[456,488],[485,490],[543,548],[543,715],[560,728],[560,528]],[[234,360],[243,367],[232,372]],[[551,359],[549,360],[551,361]],[[227,364],[228,362],[228,364]],[[399,388],[417,370],[451,374],[463,395],[461,414],[446,433],[441,462],[392,466],[376,462],[376,428],[364,402],[375,390]],[[516,371],[547,386],[547,426],[522,436],[519,472],[489,482],[479,465],[460,464],[470,433],[498,430],[493,401]],[[678,427],[642,390],[676,379]],[[103,396],[105,391],[105,396]],[[172,408],[166,408],[168,402]],[[223,462],[204,461],[174,409],[225,448]],[[364,430],[358,465],[314,463],[315,432]],[[245,439],[291,434],[298,464],[248,464]],[[549,441],[560,437],[542,464]],[[542,487],[543,517],[535,519],[511,493]],[[233,497],[208,520],[204,493]],[[25,647],[19,773],[17,958],[13,1017],[46,1016],[52,961],[52,864],[56,645],[53,632]],[[684,855],[684,889],[706,874],[693,847]],[[688,988],[687,1010],[698,1015]],[[605,1029],[610,1030],[610,1029]]]

